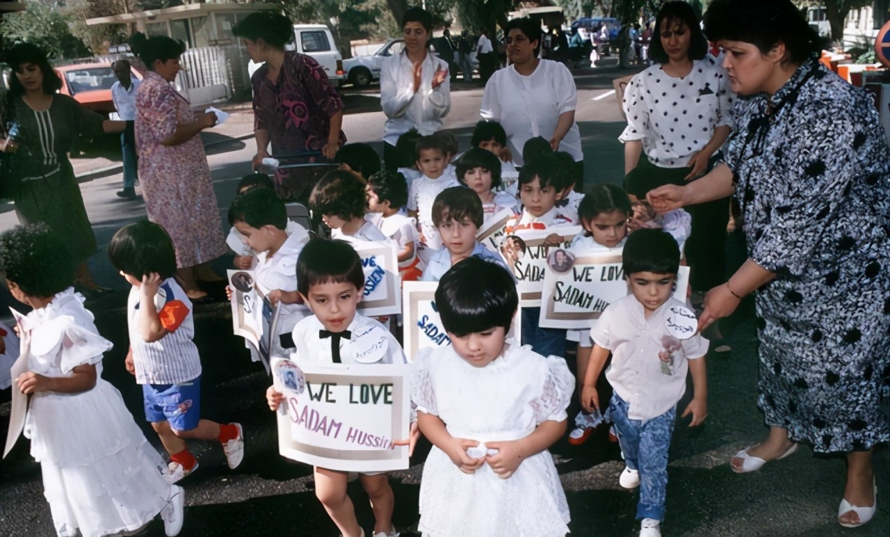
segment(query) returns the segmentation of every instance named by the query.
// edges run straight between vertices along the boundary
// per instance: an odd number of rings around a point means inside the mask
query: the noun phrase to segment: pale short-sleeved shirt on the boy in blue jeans
[[[708,340],[700,334],[680,341],[667,333],[665,317],[672,305],[685,307],[670,297],[647,320],[643,305],[629,295],[609,305],[590,330],[594,343],[612,353],[606,378],[627,401],[630,419],[653,419],[669,411],[686,392],[686,361],[708,353]],[[669,374],[659,359],[659,352],[665,350],[664,338],[680,346],[671,357]]]

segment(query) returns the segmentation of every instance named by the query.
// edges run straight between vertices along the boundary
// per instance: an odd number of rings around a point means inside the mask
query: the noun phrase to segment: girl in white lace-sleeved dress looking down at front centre
[[[506,344],[519,297],[494,264],[456,264],[435,301],[451,345],[412,363],[411,402],[433,443],[418,529],[565,535],[569,506],[547,452],[566,427],[573,379],[565,361]]]

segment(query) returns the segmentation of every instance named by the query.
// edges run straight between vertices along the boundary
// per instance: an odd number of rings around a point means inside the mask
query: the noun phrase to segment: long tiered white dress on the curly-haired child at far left
[[[62,291],[25,320],[28,370],[67,377],[79,365],[96,366],[93,389],[32,395],[25,422],[53,525],[66,537],[78,530],[84,537],[133,531],[158,515],[171,492],[161,475],[164,460],[117,389],[100,377],[111,342],[99,336],[83,300],[73,289]]]

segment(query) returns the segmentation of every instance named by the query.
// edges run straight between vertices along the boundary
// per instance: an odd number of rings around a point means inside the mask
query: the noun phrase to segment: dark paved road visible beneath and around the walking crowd
[[[623,128],[614,96],[596,100],[611,90],[609,77],[578,77],[578,122],[584,141],[587,183],[618,183],[623,170],[622,148],[616,137]],[[383,114],[374,96],[351,97],[344,129],[352,142],[377,142]],[[457,129],[462,147],[476,121],[481,89],[456,92],[446,127]],[[379,144],[378,144],[379,146]],[[252,141],[216,146],[208,160],[220,201],[221,221],[237,179],[247,173],[255,148]],[[122,224],[144,216],[140,202],[118,201],[120,176],[82,185],[100,245]],[[16,223],[12,207],[2,207],[0,230]],[[221,268],[225,261],[221,262]],[[104,252],[91,260],[103,284],[124,289],[110,269]],[[115,343],[106,356],[105,376],[121,390],[134,416],[141,416],[141,392],[123,370],[126,348],[124,293],[91,305],[103,335]],[[313,495],[309,468],[290,464],[277,453],[272,414],[264,408],[264,373],[247,359],[238,338],[231,336],[228,305],[202,307],[196,314],[198,346],[205,368],[203,406],[210,419],[237,419],[245,426],[247,454],[241,468],[224,466],[216,445],[194,444],[201,468],[190,476],[186,523],[182,535],[336,535],[335,526]],[[665,535],[887,535],[890,504],[878,504],[875,520],[860,530],[844,530],[835,521],[843,492],[844,460],[813,457],[802,449],[788,460],[767,465],[748,476],[737,476],[727,461],[741,447],[765,434],[756,411],[756,338],[745,315],[735,320],[731,357],[708,359],[709,416],[704,427],[690,429],[678,420],[670,457]],[[684,404],[684,403],[681,403]],[[8,404],[0,405],[0,430],[8,422]],[[137,419],[138,421],[138,419]],[[155,440],[150,432],[148,437]],[[428,446],[426,447],[428,449]],[[0,462],[0,535],[52,535],[48,506],[42,496],[39,466],[20,442],[10,458]],[[620,489],[623,465],[614,444],[602,435],[581,448],[554,446],[576,535],[633,535],[636,494]],[[392,475],[400,528],[417,523],[417,494],[425,449],[418,449],[412,466]],[[876,456],[878,489],[890,490],[890,460],[886,449]],[[350,493],[361,523],[373,518],[358,484]],[[883,494],[879,495],[884,497]],[[150,535],[163,535],[156,521]]]

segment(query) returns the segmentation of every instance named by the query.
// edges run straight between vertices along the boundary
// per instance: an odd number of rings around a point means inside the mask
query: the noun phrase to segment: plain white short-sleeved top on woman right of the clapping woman
[[[541,60],[525,77],[511,65],[491,76],[482,94],[481,116],[498,121],[506,131],[507,144],[516,164],[522,166],[522,147],[536,136],[553,138],[559,117],[575,110],[578,90],[570,70],[557,61]],[[562,138],[559,151],[576,162],[584,159],[578,124],[572,123]]]

